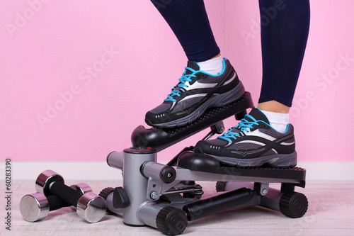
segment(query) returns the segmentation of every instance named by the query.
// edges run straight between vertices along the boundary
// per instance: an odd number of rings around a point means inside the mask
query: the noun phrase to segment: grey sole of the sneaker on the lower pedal
[[[264,157],[256,157],[252,159],[239,159],[234,157],[219,157],[212,155],[219,162],[229,164],[235,167],[261,167],[264,164],[269,167],[290,168],[297,165],[297,153],[290,154],[273,154]]]

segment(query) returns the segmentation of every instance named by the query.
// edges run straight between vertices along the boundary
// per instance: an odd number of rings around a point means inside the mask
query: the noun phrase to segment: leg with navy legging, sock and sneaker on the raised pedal
[[[147,112],[147,124],[173,128],[192,123],[213,106],[241,98],[244,87],[221,57],[202,0],[152,0],[181,43],[188,64],[164,102]]]

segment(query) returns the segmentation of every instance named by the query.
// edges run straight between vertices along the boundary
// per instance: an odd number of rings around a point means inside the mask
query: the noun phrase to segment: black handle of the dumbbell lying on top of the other
[[[50,185],[50,192],[68,203],[69,206],[76,206],[82,196],[80,191],[76,191],[60,181],[55,181]]]

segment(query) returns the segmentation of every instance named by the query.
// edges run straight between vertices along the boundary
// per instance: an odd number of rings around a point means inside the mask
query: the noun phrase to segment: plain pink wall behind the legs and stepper
[[[258,1],[205,4],[222,54],[256,102]],[[353,160],[354,1],[311,4],[292,108],[299,161]],[[131,131],[165,99],[186,63],[148,0],[0,1],[0,26],[0,154],[13,160],[105,160],[110,151],[130,147]],[[50,111],[53,106],[59,111]],[[47,118],[40,123],[39,116]],[[204,135],[162,151],[159,159]]]

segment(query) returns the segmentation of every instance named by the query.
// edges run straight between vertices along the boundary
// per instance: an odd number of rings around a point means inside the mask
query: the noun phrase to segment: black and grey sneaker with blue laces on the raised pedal
[[[188,61],[179,82],[164,103],[147,112],[145,122],[160,128],[174,128],[192,123],[210,107],[225,106],[241,98],[244,86],[230,64],[223,60],[220,74],[199,70],[196,62]]]

